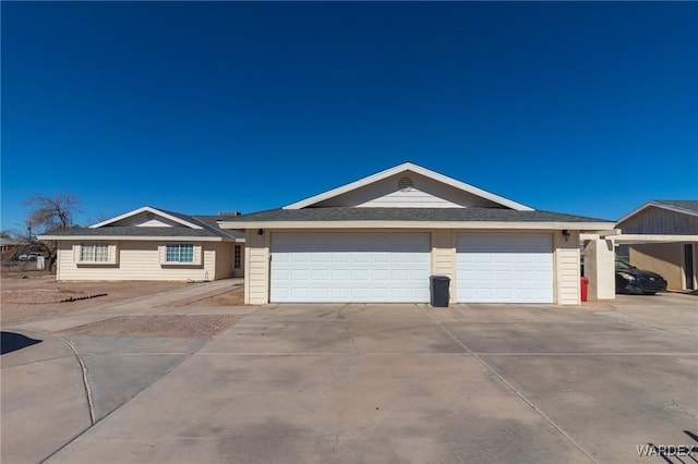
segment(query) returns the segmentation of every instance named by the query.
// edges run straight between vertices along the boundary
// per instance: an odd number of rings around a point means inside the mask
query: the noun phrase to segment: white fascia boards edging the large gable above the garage
[[[305,198],[303,200],[292,203],[290,205],[285,206],[282,209],[301,209],[309,206],[312,206],[316,203],[324,202],[326,199],[342,195],[347,192],[351,192],[353,190],[363,187],[365,185],[372,184],[374,182],[381,181],[383,179],[389,178],[390,175],[398,174],[404,171],[412,171],[418,174],[424,175],[425,178],[430,178],[434,181],[444,183],[446,185],[450,185],[452,187],[461,190],[464,192],[468,192],[470,194],[480,196],[482,198],[489,199],[491,202],[497,203],[502,206],[506,206],[507,208],[515,209],[517,211],[533,211],[533,208],[521,205],[520,203],[513,202],[510,199],[504,198],[500,195],[495,195],[493,193],[483,191],[470,184],[466,184],[465,182],[457,181],[453,178],[449,178],[444,174],[440,174],[438,172],[429,170],[426,168],[422,168],[421,166],[417,166],[411,162],[404,162],[402,164],[398,164],[395,168],[386,169],[385,171],[381,171],[378,173],[369,175],[366,178],[360,179],[358,181],[351,182],[349,184],[342,185],[337,188],[333,188],[325,193],[312,196],[310,198]]]

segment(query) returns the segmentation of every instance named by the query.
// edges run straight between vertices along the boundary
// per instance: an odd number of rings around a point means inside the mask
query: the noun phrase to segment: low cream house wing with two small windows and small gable
[[[88,228],[39,235],[58,241],[57,280],[205,281],[242,277],[244,235],[217,216],[145,206]]]

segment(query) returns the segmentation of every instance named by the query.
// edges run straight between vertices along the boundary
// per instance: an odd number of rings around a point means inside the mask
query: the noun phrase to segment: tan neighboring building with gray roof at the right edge
[[[698,200],[651,200],[616,227],[633,266],[660,273],[669,289],[698,289]]]

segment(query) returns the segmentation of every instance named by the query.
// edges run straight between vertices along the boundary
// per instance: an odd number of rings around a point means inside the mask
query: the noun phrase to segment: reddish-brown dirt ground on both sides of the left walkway
[[[4,267],[0,274],[0,323],[16,323],[80,313],[190,285],[185,282],[57,282],[49,272]],[[203,306],[241,305],[244,290],[195,302]]]

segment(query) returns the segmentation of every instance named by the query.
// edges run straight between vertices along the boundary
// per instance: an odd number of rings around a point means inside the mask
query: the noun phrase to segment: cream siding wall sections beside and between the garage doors
[[[356,230],[356,232],[371,232],[372,230]],[[279,230],[275,232],[298,232]],[[314,230],[313,232],[317,232]],[[386,232],[386,230],[381,230]],[[402,232],[405,232],[402,230]],[[413,232],[425,232],[414,230]],[[457,301],[458,289],[456,282],[456,245],[455,236],[458,231],[437,230],[431,232],[431,274],[447,276],[450,278],[450,301]],[[520,233],[522,231],[513,231]],[[534,231],[540,233],[541,231]],[[551,231],[553,234],[553,262],[554,262],[554,301],[561,305],[577,305],[579,296],[579,233],[570,231],[571,236],[565,241],[559,231]],[[270,234],[264,231],[262,235],[257,230],[249,230],[245,236],[245,303],[266,304],[269,298],[269,257]]]

